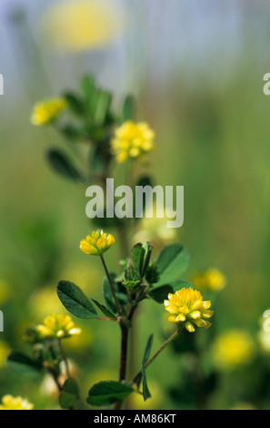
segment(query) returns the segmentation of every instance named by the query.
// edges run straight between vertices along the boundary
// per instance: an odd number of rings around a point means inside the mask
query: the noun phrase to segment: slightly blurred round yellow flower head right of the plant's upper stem
[[[116,129],[115,138],[111,140],[116,162],[121,164],[127,158],[141,158],[153,149],[154,138],[154,131],[145,122],[125,122]]]

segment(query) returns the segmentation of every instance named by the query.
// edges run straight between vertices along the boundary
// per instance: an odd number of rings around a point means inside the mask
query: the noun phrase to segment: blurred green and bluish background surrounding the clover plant
[[[270,71],[269,3],[110,0],[102,2],[99,21],[87,16],[99,38],[91,33],[85,40],[79,13],[68,36],[65,9],[52,10],[55,2],[48,0],[35,3],[0,5],[0,397],[12,393],[27,396],[35,408],[58,408],[50,382],[18,376],[5,366],[5,354],[27,350],[22,335],[29,323],[65,311],[55,293],[58,280],[73,280],[101,299],[102,266],[78,245],[91,228],[85,188],[48,167],[47,149],[65,141],[29,120],[37,100],[76,88],[82,75],[93,73],[114,92],[116,107],[127,93],[135,94],[137,119],[156,132],[150,172],[158,184],[185,186],[185,225],[175,240],[191,254],[186,279],[209,267],[227,279],[213,305],[215,332],[247,331],[255,343],[253,362],[220,373],[208,407],[270,408],[269,378],[258,371],[259,358],[266,367],[270,360],[258,340],[261,317],[270,308],[270,98],[263,93]],[[62,16],[62,25],[55,16]],[[106,260],[117,269],[116,250]],[[145,301],[143,310],[135,358],[151,332],[156,349],[167,328],[162,306]],[[79,367],[86,394],[101,378],[117,380],[119,338],[113,323],[76,323],[84,334],[79,342],[66,342],[66,352]],[[182,382],[181,371],[179,354],[166,350],[149,369],[153,399],[134,406],[195,408],[169,393]]]

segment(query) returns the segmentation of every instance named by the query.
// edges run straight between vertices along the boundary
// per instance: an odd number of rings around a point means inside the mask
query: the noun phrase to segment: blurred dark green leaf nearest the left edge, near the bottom
[[[27,355],[25,352],[13,351],[7,358],[7,364],[16,372],[35,375],[42,371],[42,363]]]

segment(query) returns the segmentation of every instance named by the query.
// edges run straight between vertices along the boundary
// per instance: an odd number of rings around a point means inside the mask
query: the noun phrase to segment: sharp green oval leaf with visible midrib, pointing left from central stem
[[[65,309],[78,318],[97,318],[92,303],[87,299],[79,287],[68,280],[60,280],[57,284],[57,294]]]

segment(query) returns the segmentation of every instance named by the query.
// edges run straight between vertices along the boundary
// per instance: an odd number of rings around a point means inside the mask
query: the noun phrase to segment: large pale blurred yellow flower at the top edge
[[[65,52],[110,45],[125,31],[124,10],[111,0],[71,0],[51,5],[43,17],[46,44]]]

